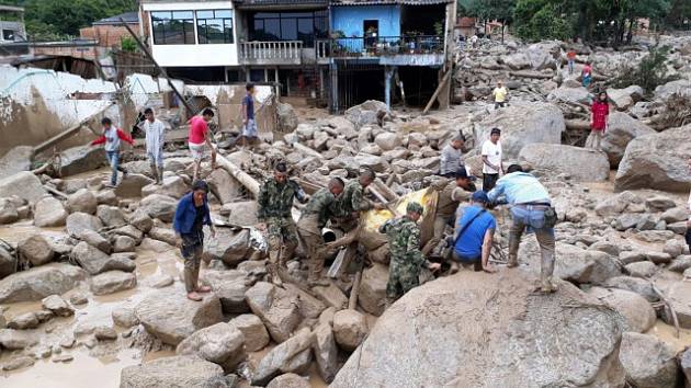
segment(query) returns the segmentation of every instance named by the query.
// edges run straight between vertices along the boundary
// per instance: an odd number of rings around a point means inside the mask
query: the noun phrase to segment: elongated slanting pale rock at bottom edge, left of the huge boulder
[[[252,385],[265,386],[282,373],[301,373],[311,362],[310,345],[314,334],[308,328],[303,328],[287,341],[272,349],[259,362],[252,375]]]

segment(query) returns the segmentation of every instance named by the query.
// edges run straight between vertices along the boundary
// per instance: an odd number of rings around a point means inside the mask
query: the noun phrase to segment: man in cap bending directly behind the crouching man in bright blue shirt
[[[439,199],[437,201],[437,213],[434,216],[434,236],[424,244],[424,248],[422,248],[422,254],[426,258],[434,251],[434,248],[437,248],[444,238],[446,225],[454,224],[458,204],[468,202],[475,191],[473,179],[468,176],[465,168],[458,168],[454,176],[456,178],[454,181],[446,182],[446,184],[439,190]]]

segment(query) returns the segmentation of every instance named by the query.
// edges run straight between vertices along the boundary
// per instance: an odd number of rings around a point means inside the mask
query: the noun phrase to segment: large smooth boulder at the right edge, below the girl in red
[[[614,189],[688,191],[691,125],[633,139],[619,164]]]

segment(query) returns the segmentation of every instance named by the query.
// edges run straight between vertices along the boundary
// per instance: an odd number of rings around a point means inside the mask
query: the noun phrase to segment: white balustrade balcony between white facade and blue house
[[[302,41],[242,42],[238,48],[243,65],[302,65]]]

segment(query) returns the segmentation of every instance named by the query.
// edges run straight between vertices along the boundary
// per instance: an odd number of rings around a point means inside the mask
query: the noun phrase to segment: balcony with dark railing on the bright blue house
[[[434,35],[338,37],[328,42],[324,52],[335,59],[376,59],[382,65],[433,66],[442,64],[444,56],[444,39]],[[319,54],[317,50],[317,57]]]

